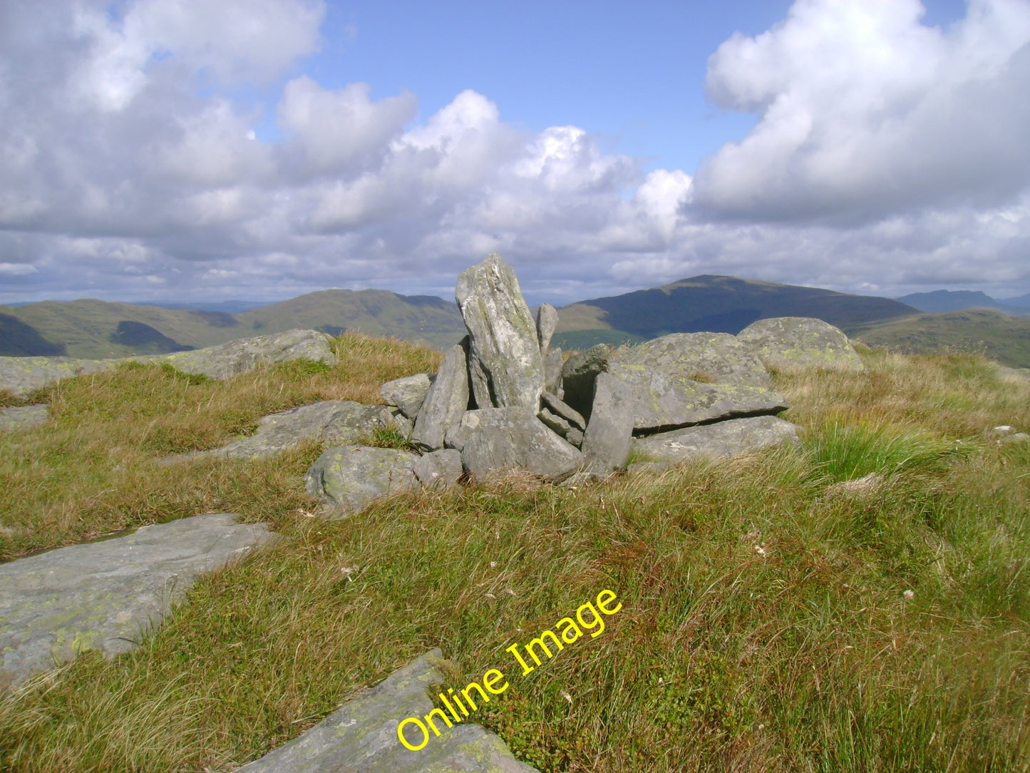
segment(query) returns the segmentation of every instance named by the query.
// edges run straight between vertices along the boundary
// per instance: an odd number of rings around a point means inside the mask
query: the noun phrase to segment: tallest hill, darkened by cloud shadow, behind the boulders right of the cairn
[[[703,275],[571,304],[559,311],[558,332],[607,329],[643,338],[701,331],[735,335],[756,320],[770,316],[815,316],[849,328],[914,311],[889,298]]]

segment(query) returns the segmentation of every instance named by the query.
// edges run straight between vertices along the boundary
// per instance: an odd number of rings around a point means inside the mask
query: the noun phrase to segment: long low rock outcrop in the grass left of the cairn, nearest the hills
[[[253,370],[263,363],[274,365],[301,358],[335,365],[336,355],[329,341],[330,337],[317,330],[287,330],[284,333],[241,338],[192,351],[129,359],[141,363],[170,363],[183,373],[229,378]]]

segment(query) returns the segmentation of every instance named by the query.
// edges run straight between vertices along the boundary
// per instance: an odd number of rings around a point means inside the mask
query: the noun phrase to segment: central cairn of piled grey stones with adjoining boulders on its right
[[[599,345],[565,360],[551,347],[557,312],[543,304],[534,318],[497,255],[458,276],[455,300],[469,335],[440,371],[382,389],[397,421],[412,423],[413,447],[451,455],[442,467],[443,459],[434,462],[435,483],[512,469],[548,480],[598,477],[625,469],[633,453],[662,465],[795,441],[797,428],[777,417],[788,404],[766,366],[861,367],[844,333],[799,317],[763,320],[739,336]],[[423,484],[418,459],[330,448],[308,474],[308,491],[353,511]]]

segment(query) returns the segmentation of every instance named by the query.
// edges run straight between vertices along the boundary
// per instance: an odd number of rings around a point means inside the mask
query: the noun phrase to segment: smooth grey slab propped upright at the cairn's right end
[[[632,390],[611,373],[598,373],[593,385],[593,408],[581,447],[587,469],[607,475],[629,458],[637,401]]]

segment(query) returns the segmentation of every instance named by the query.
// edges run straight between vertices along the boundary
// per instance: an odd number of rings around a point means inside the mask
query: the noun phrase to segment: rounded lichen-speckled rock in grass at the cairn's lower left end
[[[312,497],[328,499],[340,513],[356,512],[377,497],[418,489],[415,459],[398,448],[329,448],[305,475],[305,489]]]

